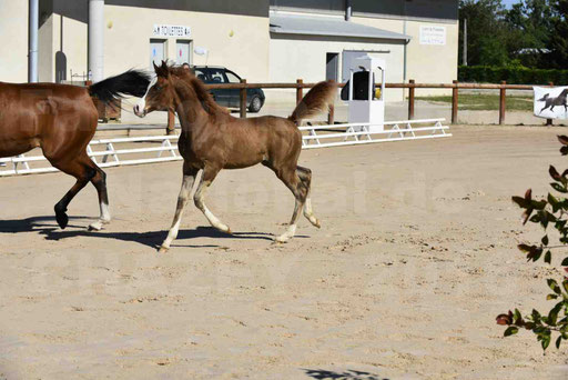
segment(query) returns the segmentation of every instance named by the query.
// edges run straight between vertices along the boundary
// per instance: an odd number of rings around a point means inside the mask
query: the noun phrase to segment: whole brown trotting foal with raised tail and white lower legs
[[[294,237],[302,208],[310,222],[320,227],[310,201],[312,171],[297,166],[302,150],[302,132],[297,124],[328,109],[337,92],[335,82],[317,83],[288,118],[265,116],[239,119],[216,104],[203,83],[187,70],[170,67],[165,62],[161,67],[154,64],[154,70],[156,77],[146,94],[134,106],[134,113],[144,117],[155,110],[175,111],[182,126],[178,146],[183,156],[183,181],[178,207],[160,252],[166,252],[178,237],[182,212],[199,170],[203,170],[203,173],[194,194],[195,206],[220,231],[231,233],[229,227],[205,206],[205,190],[221,169],[241,169],[257,163],[272,169],[296,200],[286,232],[275,241],[285,242]]]

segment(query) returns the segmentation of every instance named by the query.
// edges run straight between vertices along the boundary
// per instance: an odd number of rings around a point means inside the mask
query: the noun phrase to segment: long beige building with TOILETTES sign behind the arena
[[[0,81],[24,82],[28,0],[0,0]],[[368,53],[386,60],[388,82],[450,82],[457,49],[457,0],[39,0],[40,81],[161,59],[224,66],[248,82],[344,81]]]

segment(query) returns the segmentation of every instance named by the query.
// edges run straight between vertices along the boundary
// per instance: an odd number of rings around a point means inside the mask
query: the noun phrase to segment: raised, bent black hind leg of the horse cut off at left
[[[77,178],[75,184],[73,184],[73,187],[63,196],[63,198],[61,198],[61,200],[54,207],[55,219],[61,229],[64,229],[69,222],[69,217],[67,216],[67,207],[77,196],[77,193],[81,191],[94,176],[97,176],[97,170],[91,168],[88,164],[88,161],[90,161],[90,159],[85,154],[84,157],[80,157],[73,161],[51,162],[62,172]]]

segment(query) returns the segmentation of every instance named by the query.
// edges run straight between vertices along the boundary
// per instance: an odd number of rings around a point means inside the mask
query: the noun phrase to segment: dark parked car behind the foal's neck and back
[[[194,66],[195,76],[207,84],[240,83],[241,77],[235,72],[220,66]],[[211,93],[215,101],[227,108],[241,107],[241,90],[213,89]],[[264,91],[262,89],[246,89],[246,108],[250,112],[258,112],[264,106]]]

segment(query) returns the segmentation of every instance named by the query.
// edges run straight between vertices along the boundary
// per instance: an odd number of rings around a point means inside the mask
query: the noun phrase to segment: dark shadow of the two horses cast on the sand
[[[149,231],[149,232],[106,232],[102,231],[88,231],[84,226],[74,224],[78,220],[92,220],[87,217],[69,217],[69,226],[67,230],[61,230],[58,227],[54,217],[33,217],[28,219],[18,220],[0,220],[0,234],[1,233],[17,233],[17,232],[38,232],[44,234],[47,240],[62,240],[74,237],[92,237],[103,239],[115,239],[128,242],[136,242],[150,248],[158,249],[168,236],[168,230],[163,231]],[[195,229],[182,229],[178,234],[178,239],[172,244],[174,247],[185,248],[219,248],[217,244],[184,244],[183,240],[195,238],[210,238],[210,239],[237,239],[237,240],[266,240],[273,241],[274,234],[266,232],[233,232],[226,234],[217,231],[213,227],[197,227]],[[305,238],[297,236],[297,238]]]

